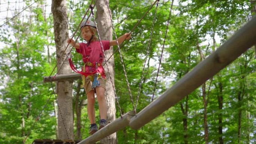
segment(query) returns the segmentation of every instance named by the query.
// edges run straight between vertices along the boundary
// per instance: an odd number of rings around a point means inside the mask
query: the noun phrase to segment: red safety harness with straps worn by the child
[[[103,53],[102,52],[100,53],[100,63],[98,63],[98,62],[90,62],[90,59],[89,59],[90,52],[91,52],[90,49],[86,49],[86,52],[85,52],[85,54],[86,54],[85,61],[86,62],[82,67],[82,71],[78,71],[76,69],[76,67],[74,66],[74,63],[72,62],[71,55],[69,55],[69,57],[68,57],[68,62],[69,62],[71,69],[74,72],[82,75],[83,85],[85,84],[85,78],[89,77],[90,80],[92,81],[92,89],[95,89],[96,87],[100,86],[100,82],[98,81],[99,77],[102,77],[104,80],[106,80],[104,68],[101,65],[103,62]],[[86,66],[95,67],[95,70],[90,71],[90,72],[85,72]]]

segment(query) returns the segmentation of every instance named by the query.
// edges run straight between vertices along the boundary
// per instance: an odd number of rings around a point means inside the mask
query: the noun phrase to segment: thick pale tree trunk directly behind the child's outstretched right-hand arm
[[[109,3],[109,0],[107,0]],[[107,4],[105,0],[98,0],[96,3],[97,7],[97,26],[99,30],[99,34],[102,40],[112,40],[112,24],[109,16],[109,11],[107,9]],[[113,53],[113,48],[111,47],[109,50],[105,51],[106,59],[110,57]],[[107,65],[109,67],[109,71],[107,70]],[[114,56],[112,56],[107,65],[104,65],[105,73],[107,76],[106,81],[106,92],[105,98],[107,102],[107,122],[113,122],[116,119],[116,107],[115,107],[115,93],[112,87],[112,83],[110,81],[110,76],[112,77],[114,84]],[[115,85],[114,85],[115,86]],[[116,133],[104,138],[101,140],[101,143],[104,144],[116,144]]]

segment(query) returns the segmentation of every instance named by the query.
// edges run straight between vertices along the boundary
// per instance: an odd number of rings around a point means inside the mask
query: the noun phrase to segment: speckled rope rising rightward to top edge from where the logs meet
[[[153,28],[154,28],[154,24],[155,24],[155,20],[156,20],[156,12],[157,12],[157,8],[158,8],[158,3],[159,3],[159,1],[157,1],[157,3],[156,3],[156,10],[155,10],[154,18],[153,18],[152,28],[151,28],[151,31],[150,31],[150,38],[149,38],[149,44],[148,44],[148,46],[147,46],[146,58],[145,58],[145,61],[144,61],[144,66],[143,66],[142,74],[141,74],[141,78],[140,78],[140,85],[139,85],[139,88],[138,88],[138,96],[137,96],[137,101],[136,101],[136,105],[135,105],[135,110],[136,110],[136,108],[137,108],[138,99],[139,99],[139,96],[140,96],[140,90],[141,90],[142,80],[143,80],[143,77],[144,77],[144,69],[145,69],[145,65],[146,65],[146,61],[147,61],[147,55],[149,54],[150,42],[151,42],[151,39],[152,39]]]

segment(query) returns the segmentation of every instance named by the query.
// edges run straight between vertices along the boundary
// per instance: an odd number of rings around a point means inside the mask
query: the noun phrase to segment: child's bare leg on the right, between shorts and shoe
[[[105,100],[105,88],[103,87],[97,87],[96,88],[96,95],[97,100],[99,103],[99,110],[100,110],[100,119],[107,119],[107,103]]]

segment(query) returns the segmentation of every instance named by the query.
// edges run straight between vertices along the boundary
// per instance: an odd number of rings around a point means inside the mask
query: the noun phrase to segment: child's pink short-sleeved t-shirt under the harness
[[[101,42],[102,42],[104,51],[110,48],[108,40],[102,40]],[[83,57],[83,62],[86,62],[87,55],[89,55],[89,62],[92,62],[92,63],[94,62],[100,63],[100,55],[102,55],[102,58],[104,59],[104,54],[102,52],[100,41],[90,42],[89,46],[87,46],[86,43],[79,43],[79,48],[80,49],[76,49],[76,51],[78,53],[81,53]],[[85,72],[90,72],[94,70],[95,70],[95,67],[94,68],[89,66],[85,67]]]

